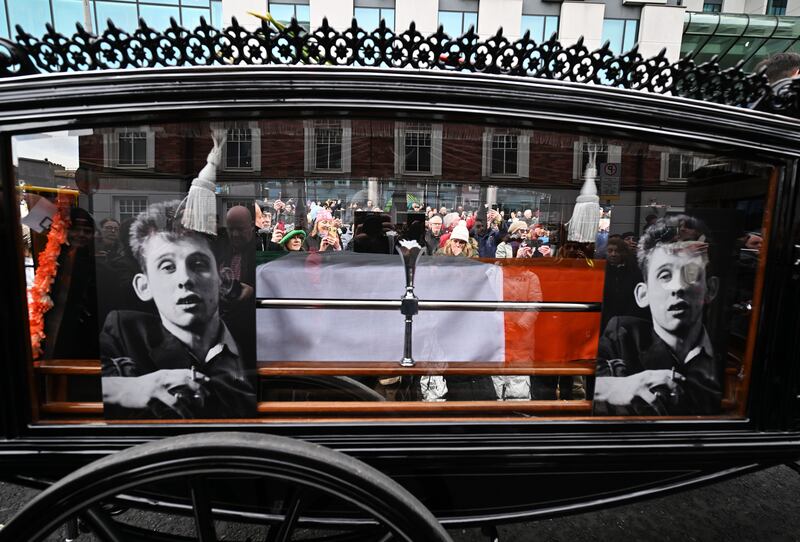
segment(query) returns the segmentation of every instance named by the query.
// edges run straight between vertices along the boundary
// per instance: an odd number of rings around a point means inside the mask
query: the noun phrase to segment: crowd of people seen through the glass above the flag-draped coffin
[[[308,211],[299,214],[293,200],[278,199],[257,201],[254,209],[256,242],[264,251],[392,253],[393,241],[414,239],[428,255],[540,258],[555,255],[559,234],[531,209],[506,214],[495,206],[483,216],[463,206],[423,209],[418,202],[394,214],[372,201],[347,208],[341,201],[308,201],[300,207]]]

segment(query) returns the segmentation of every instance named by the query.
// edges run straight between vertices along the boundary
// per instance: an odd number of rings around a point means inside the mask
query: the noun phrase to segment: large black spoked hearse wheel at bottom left
[[[193,527],[193,536],[163,524],[150,529],[151,521],[133,525],[125,519],[130,510],[108,512],[119,503],[161,509],[164,495],[170,517],[182,513],[178,519]],[[40,493],[0,530],[0,541],[42,540],[74,517],[109,542],[216,541],[223,521],[239,524],[225,540],[450,540],[422,503],[365,463],[316,444],[251,433],[172,437],[104,457]]]

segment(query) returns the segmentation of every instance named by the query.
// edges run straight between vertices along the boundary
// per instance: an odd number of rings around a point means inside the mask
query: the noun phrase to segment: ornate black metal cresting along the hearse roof
[[[774,112],[797,112],[800,82],[776,96],[763,74],[747,73],[741,64],[721,69],[716,58],[704,64],[683,59],[670,63],[662,50],[644,58],[635,46],[615,55],[608,43],[589,50],[579,39],[561,45],[555,35],[537,44],[526,33],[510,41],[503,31],[481,40],[470,29],[451,38],[442,27],[430,36],[420,34],[412,23],[395,33],[381,21],[368,32],[353,20],[339,32],[324,20],[313,32],[297,21],[276,29],[266,21],[247,30],[236,19],[223,30],[205,19],[188,30],[172,19],[158,32],[143,21],[132,33],[109,21],[95,36],[77,24],[71,37],[57,33],[51,25],[40,39],[17,26],[16,42],[0,39],[0,77],[47,72],[102,69],[206,66],[224,64],[330,64],[390,68],[444,69],[514,76],[537,77],[684,96],[721,104],[751,106]]]

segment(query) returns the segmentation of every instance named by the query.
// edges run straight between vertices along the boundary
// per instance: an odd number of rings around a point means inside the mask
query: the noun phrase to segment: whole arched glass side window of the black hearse
[[[43,421],[745,414],[769,165],[356,118],[13,146]]]

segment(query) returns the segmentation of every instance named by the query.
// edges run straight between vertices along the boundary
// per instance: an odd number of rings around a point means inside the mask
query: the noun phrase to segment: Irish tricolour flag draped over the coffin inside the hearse
[[[603,269],[586,260],[470,260],[422,256],[420,300],[597,302]],[[259,298],[400,299],[399,255],[291,253],[261,265]],[[399,310],[260,309],[258,359],[265,362],[391,362],[403,355]],[[420,311],[413,357],[421,362],[568,366],[594,360],[599,313]]]

